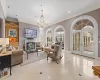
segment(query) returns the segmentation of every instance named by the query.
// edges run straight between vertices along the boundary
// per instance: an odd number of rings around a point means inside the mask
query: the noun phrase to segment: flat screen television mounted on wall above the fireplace
[[[25,38],[36,38],[37,30],[36,29],[24,29],[24,37]]]

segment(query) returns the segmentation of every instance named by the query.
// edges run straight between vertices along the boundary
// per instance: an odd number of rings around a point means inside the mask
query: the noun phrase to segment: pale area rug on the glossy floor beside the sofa
[[[27,65],[27,64],[30,64],[30,63],[34,63],[36,61],[39,61],[39,60],[42,60],[44,58],[46,58],[46,53],[45,52],[38,52],[38,56],[37,56],[37,53],[29,53],[28,54],[28,59],[27,59],[27,54],[24,53],[24,56],[23,56],[23,63],[21,64],[22,66],[24,65]]]

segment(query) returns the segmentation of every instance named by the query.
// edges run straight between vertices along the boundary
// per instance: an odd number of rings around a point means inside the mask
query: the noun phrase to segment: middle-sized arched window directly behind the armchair
[[[62,49],[65,49],[65,29],[63,26],[59,25],[55,28],[54,31],[54,42],[55,43],[62,43]]]

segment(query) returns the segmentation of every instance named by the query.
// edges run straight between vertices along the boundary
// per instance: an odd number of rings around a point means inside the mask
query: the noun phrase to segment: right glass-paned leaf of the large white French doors
[[[82,31],[82,55],[94,58],[93,31]]]

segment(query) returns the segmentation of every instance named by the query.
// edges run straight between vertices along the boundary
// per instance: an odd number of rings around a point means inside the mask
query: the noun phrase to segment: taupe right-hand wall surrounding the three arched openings
[[[94,10],[94,11],[91,11],[91,12],[88,12],[88,13],[85,13],[85,14],[82,14],[82,15],[89,15],[89,16],[92,16],[93,18],[96,19],[96,21],[98,22],[99,26],[100,26],[100,9],[97,9],[97,10]],[[61,25],[65,28],[65,50],[70,50],[70,28],[71,28],[71,25],[72,23],[74,22],[74,20],[76,20],[78,17],[82,16],[82,15],[79,15],[79,16],[76,16],[76,17],[73,17],[71,19],[68,19],[68,20],[65,20],[65,21],[62,21],[62,22],[59,22],[59,23],[56,23],[54,25],[51,25],[49,27],[45,27],[44,30],[43,30],[43,35],[45,36],[44,38],[44,43],[46,43],[46,31],[51,28],[52,31],[53,31],[53,36],[54,36],[54,30],[55,28],[58,26],[58,25]],[[100,28],[100,27],[99,27]],[[100,29],[99,29],[100,30]],[[100,31],[99,31],[99,36],[100,36]],[[53,40],[54,40],[54,37],[53,37]],[[100,48],[100,46],[99,46]],[[99,49],[100,50],[100,49]],[[100,52],[100,51],[99,51]],[[99,53],[99,56],[100,56],[100,53]]]

